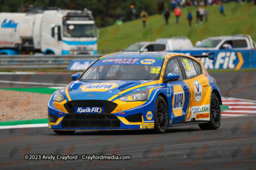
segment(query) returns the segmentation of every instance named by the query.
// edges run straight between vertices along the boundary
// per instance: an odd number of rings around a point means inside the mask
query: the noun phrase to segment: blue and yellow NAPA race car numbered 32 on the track
[[[49,129],[72,134],[84,129],[155,129],[198,124],[218,129],[221,94],[196,57],[183,53],[113,53],[73,74],[52,95]]]

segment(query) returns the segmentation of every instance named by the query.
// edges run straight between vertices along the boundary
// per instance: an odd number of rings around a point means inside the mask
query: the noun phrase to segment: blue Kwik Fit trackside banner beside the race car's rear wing
[[[185,50],[175,51],[188,55],[207,55],[209,52],[215,53],[215,60],[201,58],[205,69],[245,69],[256,67],[256,50]]]

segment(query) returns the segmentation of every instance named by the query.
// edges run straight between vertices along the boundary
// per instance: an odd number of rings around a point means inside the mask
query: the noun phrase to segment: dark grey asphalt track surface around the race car
[[[216,78],[223,96],[255,100],[255,73],[210,74]],[[13,76],[16,75],[0,74],[0,81],[10,81]],[[55,85],[60,85],[68,83],[68,76],[19,75],[13,80],[39,83],[55,80]],[[0,88],[24,86],[0,83]],[[45,127],[1,129],[0,169],[253,169],[255,118],[225,118],[215,131],[201,131],[198,125],[170,127],[166,134],[127,130],[77,131],[72,136],[63,136]],[[131,160],[24,160],[26,154],[116,154],[130,155]]]

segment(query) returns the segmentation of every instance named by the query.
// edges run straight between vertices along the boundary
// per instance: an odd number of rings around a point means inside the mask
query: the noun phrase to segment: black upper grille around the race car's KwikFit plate
[[[104,107],[104,113],[111,113],[115,110],[117,104],[111,101],[99,101],[99,100],[84,100],[84,101],[69,101],[64,104],[68,113],[75,113],[76,107]]]

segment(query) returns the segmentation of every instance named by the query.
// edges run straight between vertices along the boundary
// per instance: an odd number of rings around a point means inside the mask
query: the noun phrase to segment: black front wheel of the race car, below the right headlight
[[[155,106],[155,131],[163,134],[168,127],[168,108],[162,96],[158,96]]]

